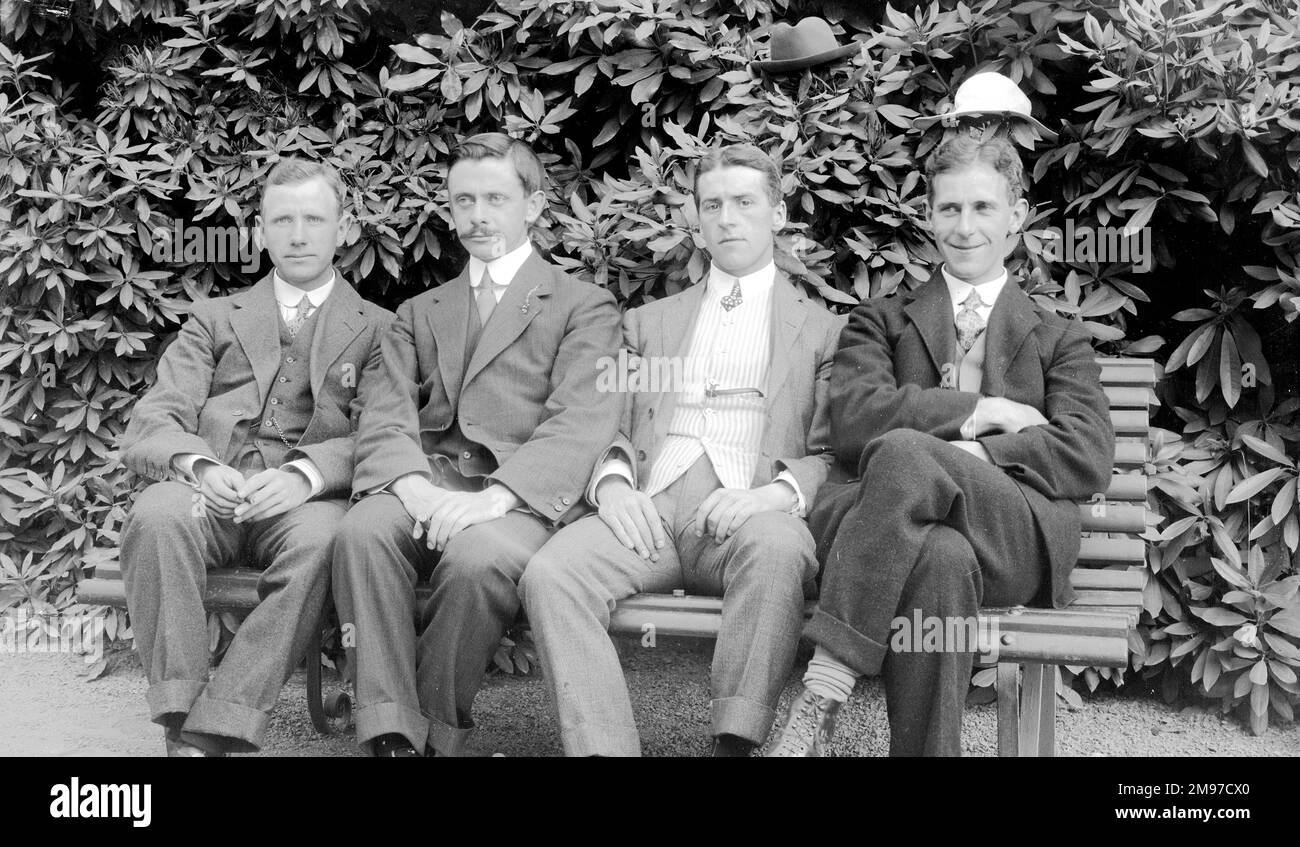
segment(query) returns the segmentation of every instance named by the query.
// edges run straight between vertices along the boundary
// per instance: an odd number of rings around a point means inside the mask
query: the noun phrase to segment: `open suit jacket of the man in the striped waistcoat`
[[[684,359],[705,290],[703,283],[696,284],[629,310],[623,318],[623,346],[629,355]],[[764,486],[781,470],[789,470],[811,508],[832,464],[831,366],[842,327],[842,317],[809,300],[777,272],[764,390],[767,420],[750,487]],[[597,470],[611,453],[620,452],[632,464],[634,478],[638,470],[649,473],[668,436],[679,387],[627,392],[621,433],[597,464]]]

